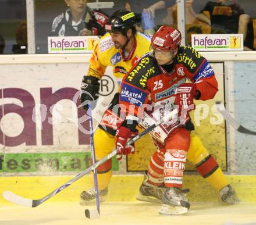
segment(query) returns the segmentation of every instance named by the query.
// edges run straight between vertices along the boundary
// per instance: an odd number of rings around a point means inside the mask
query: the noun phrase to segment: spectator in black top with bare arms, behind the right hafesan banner
[[[239,33],[246,40],[250,16],[244,13],[236,0],[194,0],[190,10],[198,20],[211,26],[211,34]],[[246,50],[250,48],[253,46],[245,47]]]

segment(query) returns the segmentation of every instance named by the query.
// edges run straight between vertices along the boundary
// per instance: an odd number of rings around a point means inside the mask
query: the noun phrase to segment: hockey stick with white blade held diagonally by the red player
[[[164,116],[161,120],[159,120],[157,123],[151,125],[146,130],[141,132],[140,134],[136,135],[134,138],[132,138],[130,141],[127,142],[127,145],[133,144],[134,141],[137,141],[139,138],[143,137],[145,134],[149,133],[151,130],[153,130],[155,127],[159,126],[161,123],[166,122],[170,119],[170,117],[177,114],[177,109],[173,110],[172,112],[168,113],[168,115]],[[77,174],[76,177],[72,178],[71,180],[67,181],[67,183],[61,185],[61,187],[58,187],[56,190],[52,191],[48,195],[46,195],[43,198],[40,199],[28,199],[20,197],[19,195],[14,194],[11,191],[4,191],[2,196],[9,202],[13,202],[17,205],[27,206],[27,207],[37,207],[38,205],[41,205],[41,203],[47,201],[49,198],[53,197],[54,195],[58,194],[60,191],[65,189],[66,187],[69,187],[70,184],[73,184],[75,181],[79,180],[81,177],[86,175],[87,173],[91,172],[91,170],[97,169],[99,165],[106,162],[107,160],[111,159],[113,156],[116,155],[116,149],[113,150],[111,153],[106,155],[104,158],[99,160],[97,163],[94,163],[94,165],[88,167],[84,172],[81,172]]]

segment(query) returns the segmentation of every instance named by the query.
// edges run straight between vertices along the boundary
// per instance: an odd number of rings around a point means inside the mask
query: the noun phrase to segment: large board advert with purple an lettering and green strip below
[[[56,174],[90,166],[88,118],[79,107],[87,70],[88,63],[1,65],[0,174]],[[118,87],[112,75],[100,82],[98,106],[104,107]],[[95,116],[94,126],[100,119]]]

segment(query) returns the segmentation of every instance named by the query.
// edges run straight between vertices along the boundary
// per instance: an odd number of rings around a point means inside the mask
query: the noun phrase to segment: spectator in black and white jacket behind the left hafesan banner
[[[65,0],[69,7],[52,23],[52,36],[104,35],[108,16],[87,6],[87,0]]]

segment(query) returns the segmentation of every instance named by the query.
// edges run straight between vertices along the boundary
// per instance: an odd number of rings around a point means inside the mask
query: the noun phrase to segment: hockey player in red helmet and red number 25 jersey
[[[125,122],[116,134],[119,155],[134,152],[134,146],[126,146],[126,142],[137,134],[139,122],[147,127],[170,110],[179,109],[177,117],[151,132],[158,150],[151,157],[147,180],[140,187],[142,196],[154,195],[162,201],[159,210],[162,214],[183,214],[190,207],[186,191],[182,190],[190,147],[190,133],[185,124],[190,120],[188,112],[194,109],[193,100],[214,98],[218,91],[208,61],[195,49],[180,46],[180,41],[179,30],[160,27],[152,37],[152,50],[123,78],[119,97],[125,113]],[[191,83],[186,83],[186,79]],[[148,194],[150,188],[154,188],[155,194]]]

